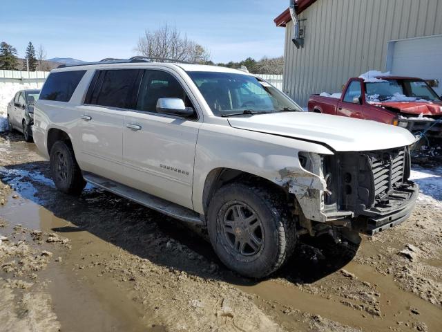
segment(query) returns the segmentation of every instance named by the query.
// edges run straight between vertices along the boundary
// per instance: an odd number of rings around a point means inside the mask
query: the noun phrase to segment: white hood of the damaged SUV
[[[327,145],[335,151],[373,151],[411,145],[407,129],[370,120],[309,112],[280,112],[229,118],[231,127]]]

